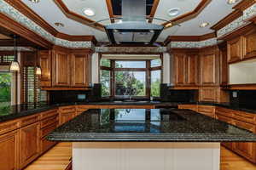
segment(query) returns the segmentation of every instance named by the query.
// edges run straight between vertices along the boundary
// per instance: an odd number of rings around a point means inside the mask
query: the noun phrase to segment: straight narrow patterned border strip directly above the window
[[[166,47],[96,47],[97,53],[164,53]]]

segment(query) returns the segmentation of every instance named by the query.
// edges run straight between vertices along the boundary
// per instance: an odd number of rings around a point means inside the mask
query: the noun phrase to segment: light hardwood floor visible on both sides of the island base
[[[65,170],[72,156],[72,144],[60,143],[38,158],[25,170]],[[256,165],[237,156],[230,150],[221,148],[220,170],[256,170]]]

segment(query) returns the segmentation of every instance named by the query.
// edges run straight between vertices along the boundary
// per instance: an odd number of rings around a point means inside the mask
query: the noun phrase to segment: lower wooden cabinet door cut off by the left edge
[[[16,170],[19,163],[19,136],[18,132],[7,133],[0,136],[0,169]]]

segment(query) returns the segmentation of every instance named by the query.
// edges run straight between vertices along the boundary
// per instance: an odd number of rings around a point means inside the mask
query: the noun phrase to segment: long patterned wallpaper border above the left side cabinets
[[[70,42],[54,37],[48,31],[45,31],[44,28],[38,26],[38,24],[27,18],[24,14],[20,13],[20,11],[12,7],[9,3],[6,3],[4,0],[0,0],[0,13],[6,14],[11,19],[19,22],[22,26],[26,26],[29,30],[34,31],[39,36],[44,37],[55,45],[66,48],[94,48],[94,44],[92,42]]]

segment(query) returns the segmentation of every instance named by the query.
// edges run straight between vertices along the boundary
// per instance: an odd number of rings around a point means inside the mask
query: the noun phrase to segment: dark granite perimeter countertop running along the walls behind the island
[[[11,105],[0,108],[0,122],[6,122],[20,118],[22,116],[30,116],[42,111],[67,105],[213,105],[221,106],[236,111],[246,111],[256,114],[256,105],[234,105],[230,103],[212,103],[212,102],[166,102],[166,101],[137,101],[137,102],[119,102],[119,101],[102,101],[102,102],[79,102],[65,104],[48,104],[45,102],[36,104]]]

